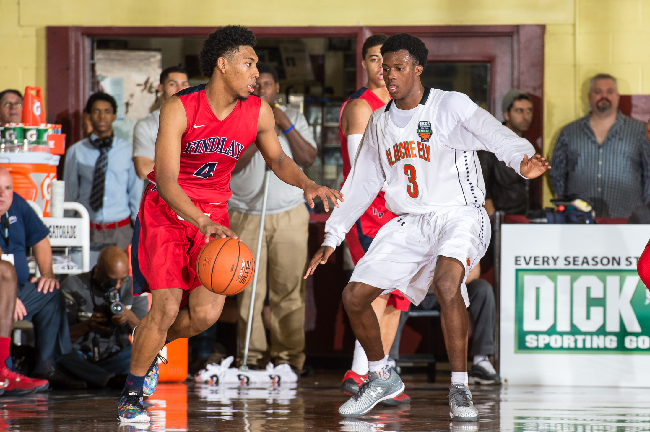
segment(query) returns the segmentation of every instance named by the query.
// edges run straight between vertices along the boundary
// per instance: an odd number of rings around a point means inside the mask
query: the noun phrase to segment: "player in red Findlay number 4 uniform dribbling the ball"
[[[313,207],[319,196],[338,206],[342,195],[307,179],[283,153],[272,109],[252,95],[259,76],[253,32],[221,27],[203,44],[201,72],[207,84],[187,88],[162,105],[155,168],[133,233],[133,292],[151,293],[151,310],[134,332],[131,370],[118,402],[122,422],[148,422],[142,396],[153,393],[159,351],[177,338],[197,335],[216,322],[224,296],[201,285],[195,268],[211,237],[228,229],[230,173],[255,142],[279,179],[304,190]]]

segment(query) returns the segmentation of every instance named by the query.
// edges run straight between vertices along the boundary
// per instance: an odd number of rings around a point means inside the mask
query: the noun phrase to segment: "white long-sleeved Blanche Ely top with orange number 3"
[[[325,225],[323,245],[335,248],[387,182],[386,207],[396,214],[426,214],[449,206],[485,203],[477,150],[495,153],[519,172],[534,147],[503,126],[467,95],[428,89],[404,128],[390,119],[390,101],[370,117],[352,171],[341,189],[345,201]]]

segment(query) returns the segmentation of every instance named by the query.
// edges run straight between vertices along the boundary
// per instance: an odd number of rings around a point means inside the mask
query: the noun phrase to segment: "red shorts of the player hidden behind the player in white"
[[[377,235],[377,232],[383,225],[390,222],[397,216],[395,213],[386,209],[386,201],[383,198],[383,192],[374,198],[370,207],[368,207],[361,217],[357,220],[352,229],[348,231],[345,240],[348,242],[352,262],[357,265],[357,262],[365,255],[372,239]],[[400,311],[408,311],[411,304],[409,299],[402,296],[398,290],[391,292],[391,297],[388,299],[387,306],[393,305],[395,309]]]

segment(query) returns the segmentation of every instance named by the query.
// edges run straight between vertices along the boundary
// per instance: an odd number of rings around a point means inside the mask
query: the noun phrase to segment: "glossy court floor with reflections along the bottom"
[[[0,431],[559,431],[650,432],[650,392],[638,388],[474,387],[480,422],[450,422],[448,384],[405,377],[411,404],[341,418],[338,374],[299,385],[161,384],[146,400],[151,422],[115,420],[118,392],[0,397]]]

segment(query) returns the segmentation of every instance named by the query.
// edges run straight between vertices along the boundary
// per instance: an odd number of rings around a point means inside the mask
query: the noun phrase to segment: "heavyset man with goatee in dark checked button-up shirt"
[[[650,143],[645,125],[618,109],[616,78],[599,73],[589,86],[589,114],[560,132],[551,184],[558,197],[577,194],[596,216],[628,218],[650,199]]]

